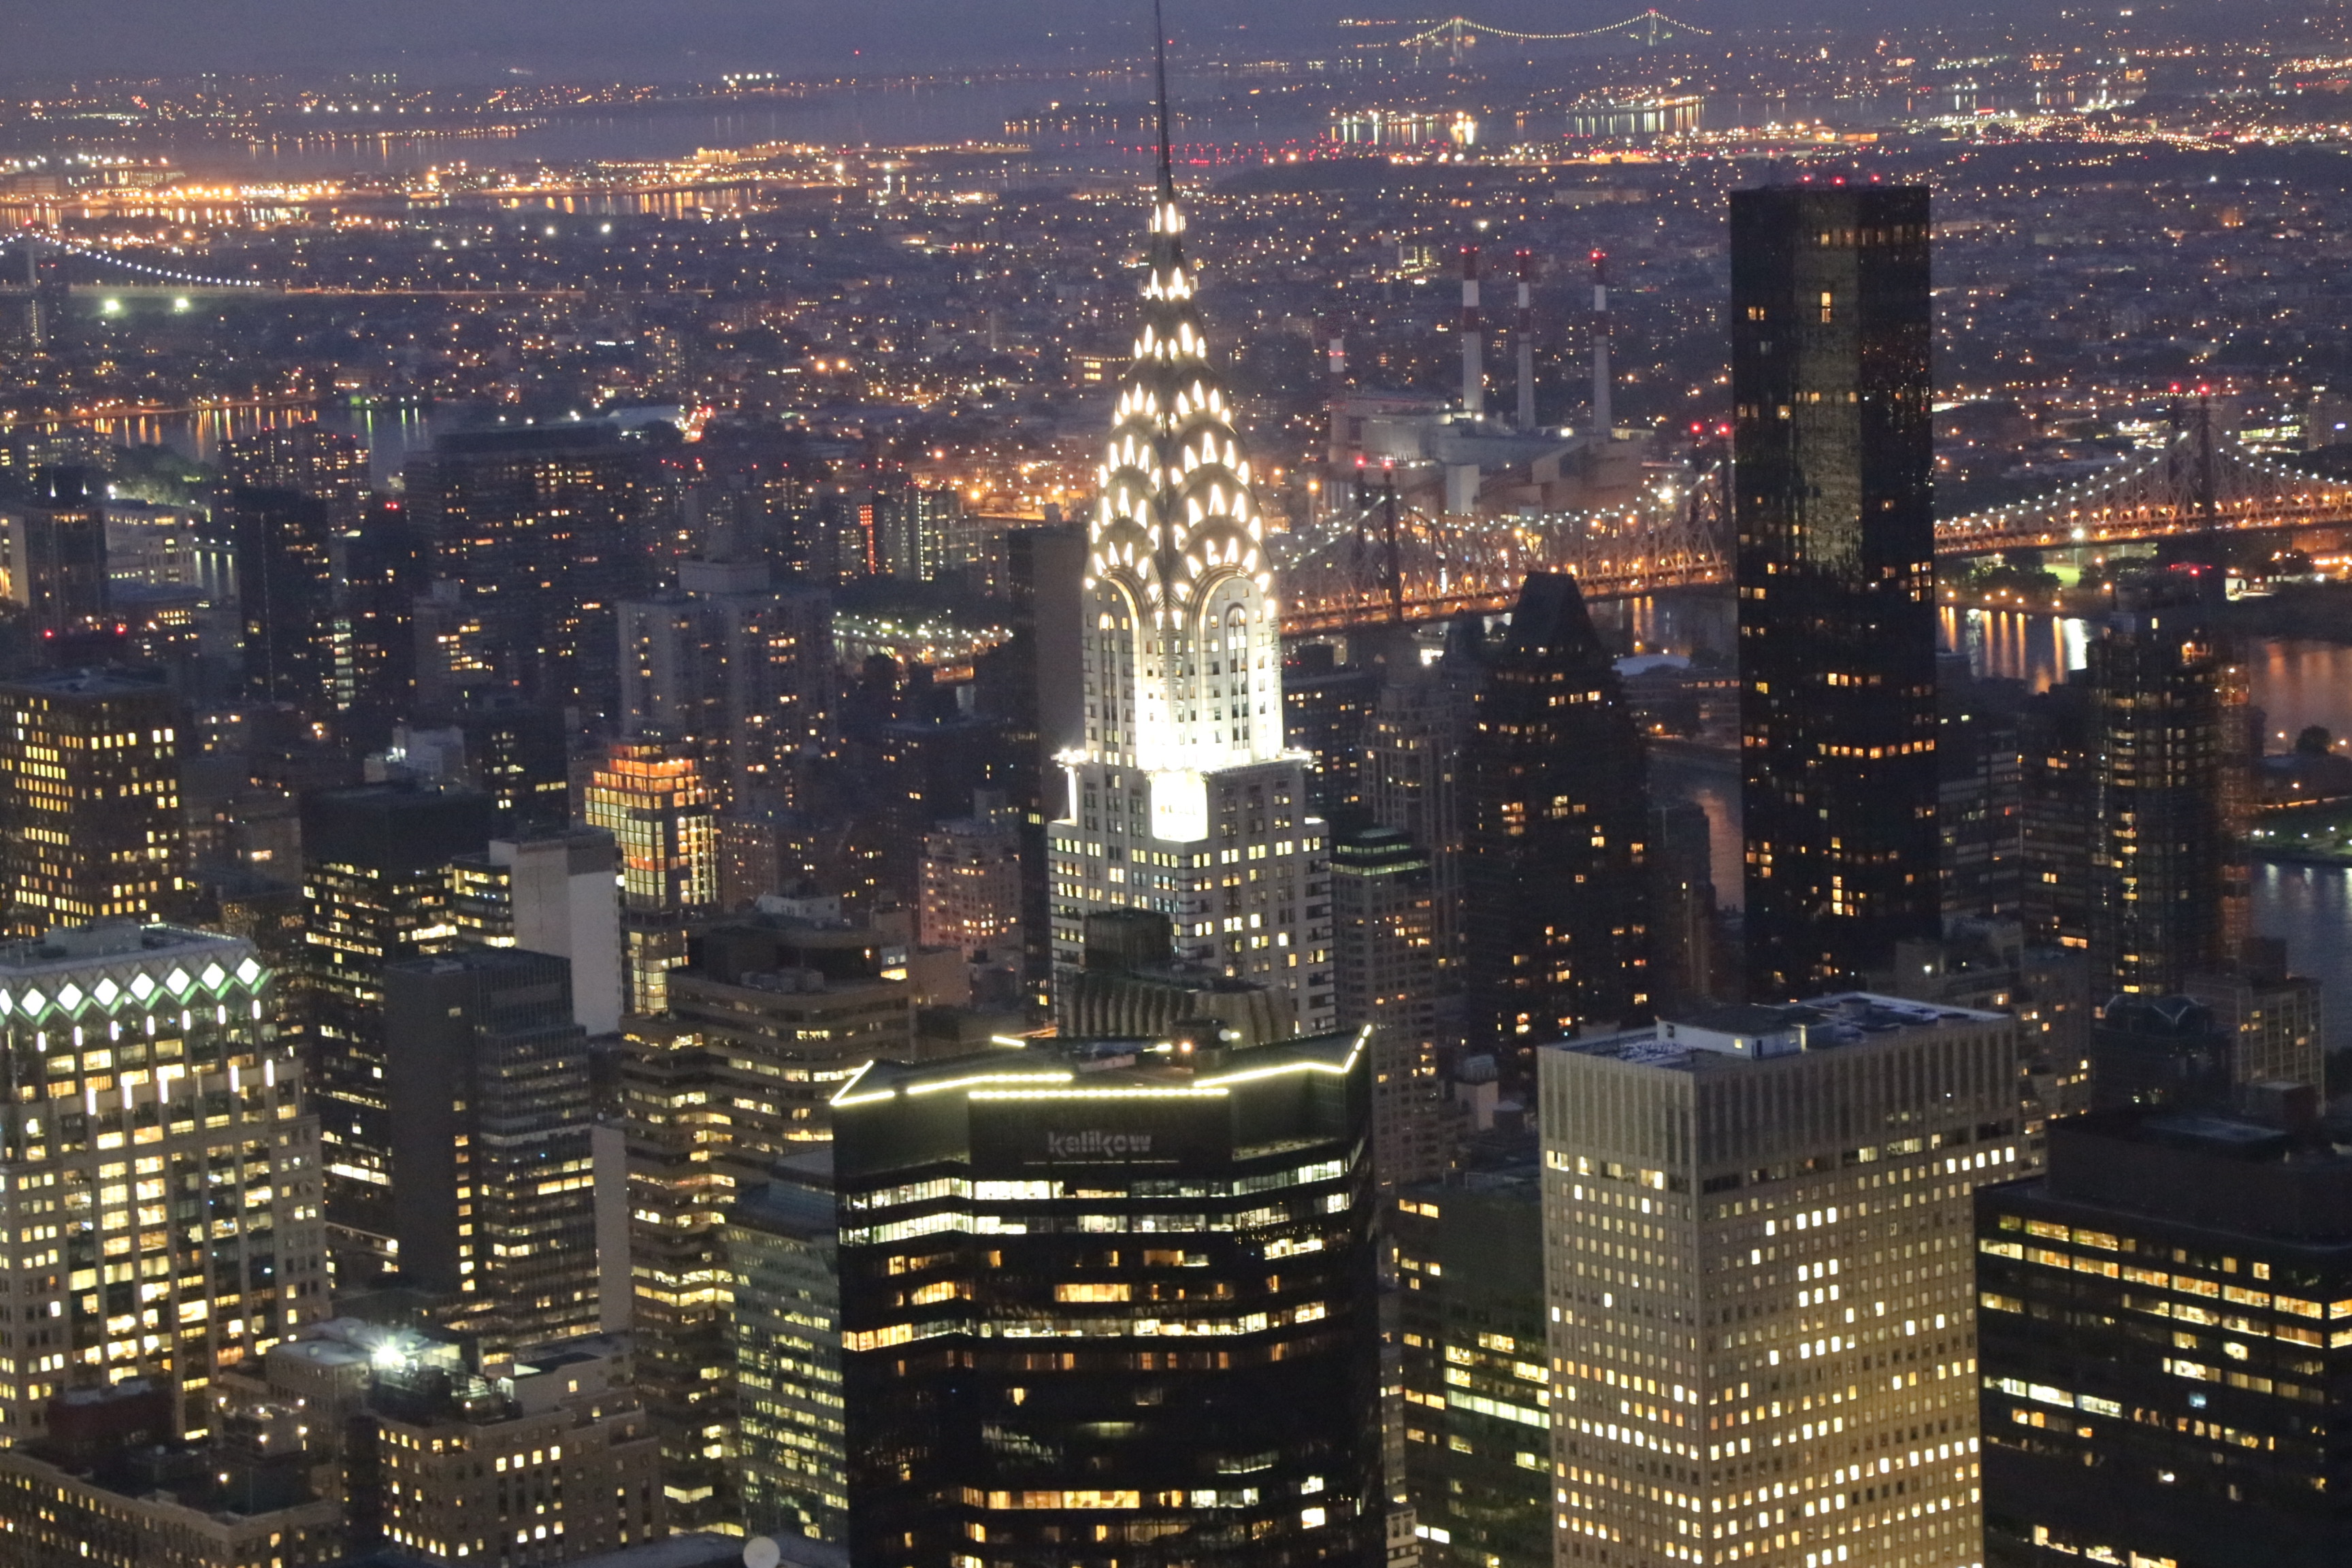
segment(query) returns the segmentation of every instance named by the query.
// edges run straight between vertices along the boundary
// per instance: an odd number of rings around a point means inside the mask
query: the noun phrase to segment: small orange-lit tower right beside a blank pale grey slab
[[[659,1013],[687,929],[720,896],[717,813],[694,752],[673,741],[616,741],[588,778],[586,813],[621,844],[621,1006]]]

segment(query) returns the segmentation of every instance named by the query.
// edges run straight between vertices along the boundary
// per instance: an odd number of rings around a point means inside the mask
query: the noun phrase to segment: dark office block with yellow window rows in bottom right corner
[[[2096,1112],[1976,1199],[1985,1561],[2352,1561],[2352,1161],[2307,1095]]]

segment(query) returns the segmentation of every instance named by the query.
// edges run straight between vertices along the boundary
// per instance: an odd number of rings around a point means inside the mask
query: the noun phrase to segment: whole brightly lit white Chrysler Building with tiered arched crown
[[[1183,957],[1331,1027],[1327,830],[1282,743],[1282,632],[1249,458],[1209,357],[1167,150],[1150,280],[1096,470],[1080,599],[1087,738],[1049,830],[1054,971],[1091,910],[1160,910]]]

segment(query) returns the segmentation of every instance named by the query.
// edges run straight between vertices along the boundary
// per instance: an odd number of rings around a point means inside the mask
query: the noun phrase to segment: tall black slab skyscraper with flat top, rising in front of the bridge
[[[1929,195],[1731,195],[1748,992],[1936,936]]]

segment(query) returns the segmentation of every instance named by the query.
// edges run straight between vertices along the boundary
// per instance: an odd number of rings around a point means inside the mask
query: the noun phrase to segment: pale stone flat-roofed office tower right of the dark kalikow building
[[[1557,1568],[1973,1568],[2004,1013],[1842,994],[1538,1051]]]

